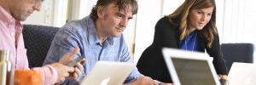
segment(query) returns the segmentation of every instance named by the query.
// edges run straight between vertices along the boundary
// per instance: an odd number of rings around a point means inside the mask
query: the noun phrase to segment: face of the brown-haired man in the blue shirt
[[[126,12],[125,12],[126,10]],[[105,37],[119,37],[125,30],[128,21],[132,19],[131,6],[125,10],[120,10],[113,3],[102,11],[99,15],[99,21],[102,31],[100,35]]]

